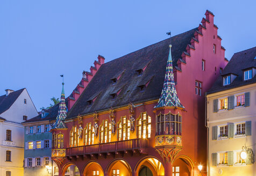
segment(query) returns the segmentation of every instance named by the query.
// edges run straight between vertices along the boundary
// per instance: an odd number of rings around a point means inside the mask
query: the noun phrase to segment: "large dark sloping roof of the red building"
[[[67,118],[73,118],[78,114],[93,113],[110,107],[122,106],[129,104],[129,102],[159,99],[163,80],[165,79],[169,44],[172,43],[173,46],[173,65],[177,66],[177,60],[181,58],[182,52],[186,51],[187,45],[190,44],[190,40],[194,37],[194,33],[197,30],[198,28],[194,28],[193,30],[175,35],[171,39],[160,41],[103,64],[75,102]],[[138,76],[136,70],[143,68],[147,63],[149,64],[143,74]],[[113,85],[111,78],[123,70],[125,70],[124,74]],[[148,78],[152,78],[151,82],[145,91],[140,92],[138,88],[139,83]],[[110,94],[121,88],[122,90],[117,98],[112,100]],[[101,94],[99,94],[92,105],[88,105],[88,99],[97,92],[101,92]]]

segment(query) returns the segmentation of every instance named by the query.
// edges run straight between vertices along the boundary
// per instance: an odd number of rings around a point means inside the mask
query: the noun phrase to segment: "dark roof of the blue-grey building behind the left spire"
[[[66,105],[68,106],[68,99],[66,98],[65,99],[66,101]],[[41,118],[41,114],[35,116],[34,118],[31,118],[25,122],[22,122],[23,124],[24,123],[31,123],[31,122],[39,122],[39,121],[52,121],[52,120],[55,120],[57,115],[58,115],[58,109],[59,109],[59,106],[60,106],[60,103],[54,105],[53,107],[47,109],[48,112],[50,112],[48,115],[45,116],[45,118]]]

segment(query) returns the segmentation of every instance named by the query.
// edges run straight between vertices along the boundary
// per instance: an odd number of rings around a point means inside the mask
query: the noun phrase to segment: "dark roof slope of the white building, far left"
[[[12,106],[12,104],[17,100],[24,89],[25,88],[11,92],[8,96],[5,94],[0,96],[0,114],[7,111]]]

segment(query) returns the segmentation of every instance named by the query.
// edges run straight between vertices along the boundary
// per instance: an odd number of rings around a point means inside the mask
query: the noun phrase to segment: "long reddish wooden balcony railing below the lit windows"
[[[118,151],[141,150],[145,152],[148,147],[146,139],[132,139],[125,141],[108,142],[93,145],[74,146],[66,149],[66,155],[89,155],[96,153],[109,153]]]

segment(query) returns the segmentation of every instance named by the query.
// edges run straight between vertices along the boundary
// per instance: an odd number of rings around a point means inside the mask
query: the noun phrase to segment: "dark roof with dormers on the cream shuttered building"
[[[256,56],[256,47],[246,49],[242,52],[235,53],[229,63],[227,63],[224,68],[221,76],[219,76],[212,85],[211,89],[207,92],[207,94],[224,91],[228,89],[233,89],[234,87],[244,86],[247,84],[256,83],[256,76],[249,80],[243,80],[243,70],[247,68],[256,67],[256,60],[254,57]],[[237,75],[236,79],[230,85],[223,86],[222,79],[224,75],[234,74]]]

